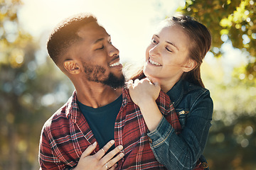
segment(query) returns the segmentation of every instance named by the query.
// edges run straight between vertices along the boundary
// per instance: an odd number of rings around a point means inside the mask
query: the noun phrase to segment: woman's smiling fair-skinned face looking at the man
[[[146,48],[144,74],[161,82],[180,79],[183,72],[189,72],[191,61],[188,57],[188,46],[191,40],[178,25],[161,28],[153,35]]]

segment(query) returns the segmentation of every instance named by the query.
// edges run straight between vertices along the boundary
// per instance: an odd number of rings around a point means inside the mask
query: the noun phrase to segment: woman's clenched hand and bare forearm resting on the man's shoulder
[[[156,105],[161,87],[157,83],[152,83],[151,79],[136,79],[134,83],[128,82],[129,94],[132,101],[139,106],[149,131],[156,129],[159,125],[162,114]]]

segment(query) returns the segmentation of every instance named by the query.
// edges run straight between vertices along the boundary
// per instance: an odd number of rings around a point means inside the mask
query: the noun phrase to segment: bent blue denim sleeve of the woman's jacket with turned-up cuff
[[[213,101],[206,91],[194,102],[179,135],[163,116],[156,130],[147,134],[156,159],[167,169],[193,169],[206,146],[212,114]]]

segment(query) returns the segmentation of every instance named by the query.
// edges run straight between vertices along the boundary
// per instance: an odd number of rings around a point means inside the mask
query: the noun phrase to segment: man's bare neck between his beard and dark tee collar
[[[75,87],[78,101],[92,108],[100,108],[115,101],[121,94],[122,88],[113,89],[107,85]]]

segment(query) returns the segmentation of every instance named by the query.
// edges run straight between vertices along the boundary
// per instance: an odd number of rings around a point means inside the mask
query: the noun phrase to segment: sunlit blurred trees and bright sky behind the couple
[[[210,169],[256,169],[256,2],[253,0],[0,0],[0,170],[38,169],[43,123],[73,92],[46,52],[50,30],[80,12],[97,16],[121,62],[142,63],[151,32],[179,11],[213,45],[202,76],[214,102],[204,155]]]

